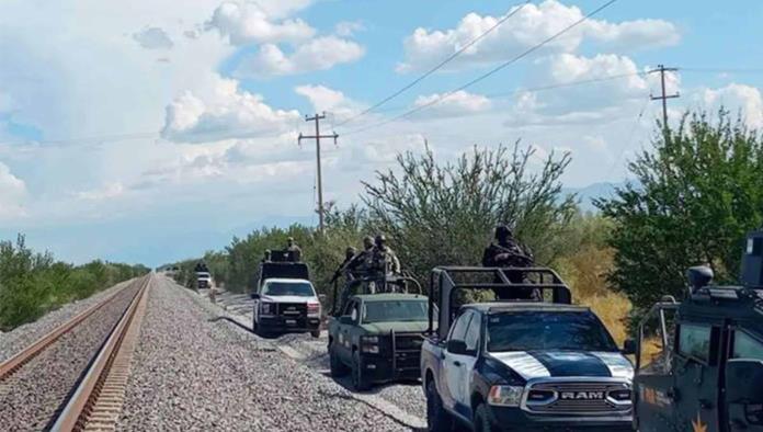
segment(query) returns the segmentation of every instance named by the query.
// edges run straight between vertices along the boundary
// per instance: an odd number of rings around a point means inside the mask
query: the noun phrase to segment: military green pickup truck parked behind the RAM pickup
[[[429,299],[419,294],[351,296],[329,320],[331,376],[352,374],[352,385],[420,378],[421,344]]]

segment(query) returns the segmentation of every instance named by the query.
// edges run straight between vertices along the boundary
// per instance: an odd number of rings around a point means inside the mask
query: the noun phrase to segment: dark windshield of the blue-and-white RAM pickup
[[[591,312],[512,312],[491,315],[488,351],[618,351]]]

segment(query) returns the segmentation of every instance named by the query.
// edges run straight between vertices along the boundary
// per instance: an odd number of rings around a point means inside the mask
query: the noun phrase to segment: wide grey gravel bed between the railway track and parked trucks
[[[155,277],[118,430],[410,430],[220,312]]]

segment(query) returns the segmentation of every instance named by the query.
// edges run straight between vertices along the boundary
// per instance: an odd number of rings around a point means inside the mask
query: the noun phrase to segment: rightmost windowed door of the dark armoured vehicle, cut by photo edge
[[[763,432],[763,334],[744,329],[734,329],[731,337],[729,362],[726,374],[726,416],[729,432]],[[758,373],[733,373],[742,362],[756,364]],[[736,364],[734,364],[736,363]],[[753,368],[754,371],[754,368]],[[741,378],[741,379],[740,379]]]

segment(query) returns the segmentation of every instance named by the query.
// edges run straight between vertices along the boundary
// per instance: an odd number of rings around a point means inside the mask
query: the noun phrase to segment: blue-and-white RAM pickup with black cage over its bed
[[[539,295],[524,298],[527,289]],[[491,294],[501,300],[465,302]],[[553,270],[436,268],[430,298],[421,353],[430,430],[630,430],[630,350],[571,305]]]

